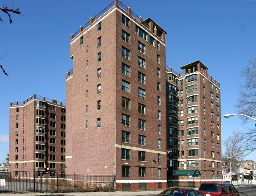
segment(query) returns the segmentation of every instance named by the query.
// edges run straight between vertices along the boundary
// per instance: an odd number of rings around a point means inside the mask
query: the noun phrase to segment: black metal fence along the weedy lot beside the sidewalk
[[[113,188],[115,175],[68,174],[64,172],[0,172],[0,192],[50,190],[90,191]]]

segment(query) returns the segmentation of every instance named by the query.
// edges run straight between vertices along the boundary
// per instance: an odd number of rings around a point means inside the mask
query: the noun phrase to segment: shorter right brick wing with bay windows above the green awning
[[[168,180],[221,181],[220,83],[200,61],[181,69],[166,70]]]

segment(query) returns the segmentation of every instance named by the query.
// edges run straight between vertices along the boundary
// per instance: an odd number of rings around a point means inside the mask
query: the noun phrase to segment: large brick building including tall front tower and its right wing
[[[117,183],[221,179],[220,84],[199,61],[183,76],[167,70],[165,34],[118,0],[71,34],[66,172]]]

